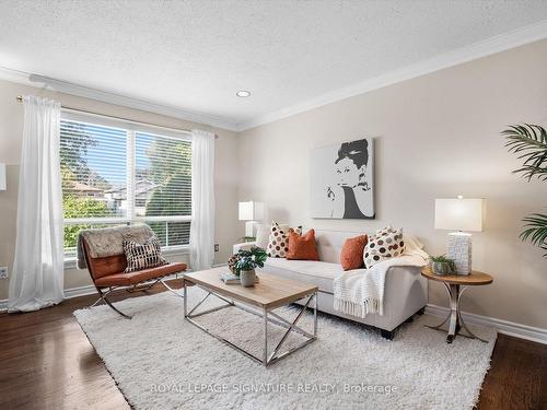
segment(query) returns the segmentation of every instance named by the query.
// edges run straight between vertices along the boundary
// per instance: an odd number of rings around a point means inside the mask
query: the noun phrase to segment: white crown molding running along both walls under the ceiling
[[[212,127],[223,128],[231,131],[245,131],[265,124],[274,122],[282,118],[304,113],[314,108],[325,106],[341,99],[346,99],[369,91],[382,89],[420,75],[429,74],[445,68],[454,67],[464,62],[476,60],[496,52],[504,51],[528,43],[547,38],[547,20],[539,23],[517,28],[486,40],[472,44],[466,47],[449,51],[437,57],[407,66],[405,68],[387,72],[385,74],[365,80],[363,82],[326,93],[299,104],[268,113],[248,121],[235,122],[233,120],[203,113],[181,109],[150,101],[138,99],[105,90],[92,89],[67,81],[32,74],[24,71],[0,67],[0,79],[31,85],[46,87],[66,94],[77,95],[85,98],[96,99],[108,104],[119,105],[128,108],[155,113],[187,121],[199,122]]]

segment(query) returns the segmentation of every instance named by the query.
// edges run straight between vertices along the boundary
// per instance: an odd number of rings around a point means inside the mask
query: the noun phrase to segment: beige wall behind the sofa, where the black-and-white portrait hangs
[[[545,211],[547,184],[512,175],[520,162],[500,137],[508,124],[547,126],[546,67],[543,40],[242,132],[238,198],[265,201],[270,219],[317,229],[403,226],[434,255],[447,233],[433,229],[434,199],[487,198],[474,268],[494,282],[469,290],[464,309],[547,328],[547,259],[517,238],[521,218]],[[377,219],[311,220],[310,150],[362,137],[376,139]],[[440,284],[430,284],[429,300],[446,305]]]

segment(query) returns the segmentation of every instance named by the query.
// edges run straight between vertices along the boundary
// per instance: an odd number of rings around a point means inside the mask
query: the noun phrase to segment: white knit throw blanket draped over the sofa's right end
[[[334,280],[334,308],[347,315],[365,317],[383,315],[384,284],[387,270],[394,266],[427,263],[428,254],[421,249],[400,257],[384,260],[370,269],[348,270]]]

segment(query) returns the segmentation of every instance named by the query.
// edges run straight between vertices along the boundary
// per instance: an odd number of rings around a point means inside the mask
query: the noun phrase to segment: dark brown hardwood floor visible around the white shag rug
[[[156,285],[149,293],[162,291]],[[140,295],[121,292],[115,298]],[[0,314],[0,409],[129,409],[72,316],[95,300]],[[547,409],[547,345],[500,335],[477,408]]]

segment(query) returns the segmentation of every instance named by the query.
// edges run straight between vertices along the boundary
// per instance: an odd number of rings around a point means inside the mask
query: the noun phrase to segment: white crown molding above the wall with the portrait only
[[[496,52],[504,51],[528,43],[547,38],[547,20],[532,24],[512,32],[490,37],[486,40],[461,47],[433,58],[394,70],[385,74],[365,80],[363,82],[333,91],[316,98],[282,108],[277,112],[258,116],[249,121],[237,124],[237,131],[245,131],[268,122],[304,113],[324,105],[346,99],[369,91],[382,89],[387,85],[410,80],[420,75],[429,74],[449,67],[476,60]]]

